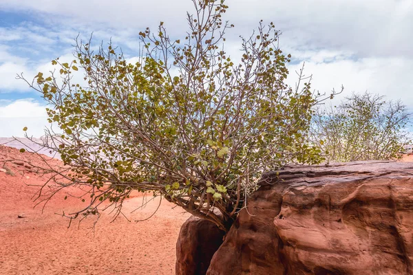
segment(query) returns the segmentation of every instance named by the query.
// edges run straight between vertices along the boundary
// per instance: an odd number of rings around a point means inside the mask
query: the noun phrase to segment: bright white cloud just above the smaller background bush
[[[323,58],[321,58],[323,59]],[[297,78],[293,75],[301,69],[302,64],[290,65],[288,83],[293,85]],[[327,94],[334,88],[345,90],[337,97],[341,99],[353,91],[362,93],[370,91],[381,94],[388,99],[403,99],[403,104],[413,107],[413,83],[409,80],[413,75],[413,58],[370,57],[359,60],[343,59],[331,63],[319,63],[309,58],[304,72],[313,74],[313,89]]]

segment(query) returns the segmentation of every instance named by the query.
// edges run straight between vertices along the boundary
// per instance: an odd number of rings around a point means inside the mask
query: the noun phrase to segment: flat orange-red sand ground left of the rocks
[[[0,161],[16,157],[39,162],[31,153],[0,146]],[[79,209],[81,201],[65,201],[62,193],[41,214],[41,207],[33,209],[31,199],[39,187],[26,184],[42,184],[45,178],[33,172],[21,175],[23,166],[6,165],[15,175],[0,171],[0,274],[175,273],[176,239],[189,217],[180,208],[173,209],[163,200],[151,219],[136,223],[156,210],[159,199],[131,213],[142,204],[141,196],[133,197],[123,210],[131,222],[118,218],[110,223],[112,215],[104,212],[94,231],[93,219],[82,221],[79,228],[77,222],[72,223],[67,229],[68,220],[54,213]]]

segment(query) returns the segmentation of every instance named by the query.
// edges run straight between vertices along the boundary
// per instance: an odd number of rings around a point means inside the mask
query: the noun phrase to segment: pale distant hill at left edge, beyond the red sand
[[[39,154],[47,155],[48,157],[54,157],[56,159],[60,159],[60,154],[56,153],[55,151],[50,151],[48,148],[43,148],[39,144],[43,144],[43,140],[41,138],[33,138],[32,142],[31,140],[28,140],[25,137],[16,137],[17,140],[14,140],[13,137],[0,137],[0,144],[21,149],[25,148],[26,151],[29,152],[37,152]],[[39,143],[39,144],[36,144]]]

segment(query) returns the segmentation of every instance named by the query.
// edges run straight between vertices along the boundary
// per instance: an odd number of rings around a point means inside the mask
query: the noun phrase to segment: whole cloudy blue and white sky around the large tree
[[[279,46],[293,60],[288,84],[295,85],[305,62],[313,89],[345,88],[401,99],[413,110],[413,0],[227,0],[224,20],[235,28],[226,51],[236,56],[239,36],[259,21],[282,31]],[[165,22],[169,34],[183,38],[190,0],[0,0],[0,137],[40,137],[47,124],[45,102],[27,83],[50,70],[54,58],[71,60],[74,39],[112,39],[127,58],[138,54],[138,33]]]

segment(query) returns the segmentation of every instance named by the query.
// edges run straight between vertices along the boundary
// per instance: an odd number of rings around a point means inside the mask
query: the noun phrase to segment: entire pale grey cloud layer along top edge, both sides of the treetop
[[[260,19],[273,21],[297,45],[350,50],[362,55],[413,56],[413,2],[411,0],[228,0],[226,19],[236,34],[249,34]],[[81,8],[79,8],[81,7]],[[0,0],[3,10],[43,12],[51,22],[65,22],[72,30],[113,29],[124,37],[155,27],[160,21],[173,34],[186,30],[191,1],[152,0]],[[97,27],[97,28],[96,28]],[[123,32],[123,33],[122,33]],[[125,41],[126,42],[126,41]]]

